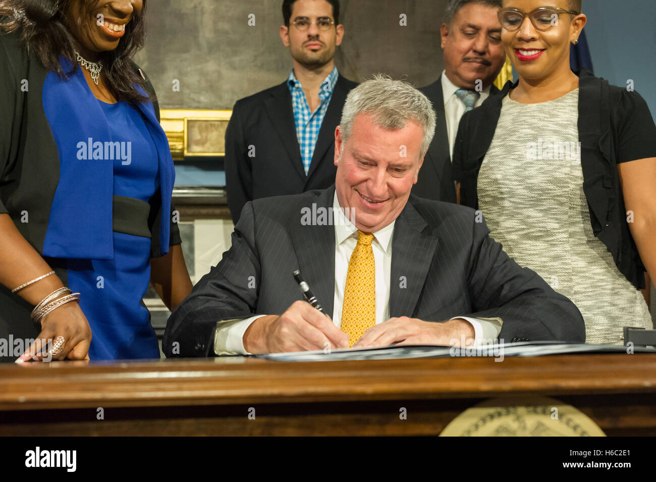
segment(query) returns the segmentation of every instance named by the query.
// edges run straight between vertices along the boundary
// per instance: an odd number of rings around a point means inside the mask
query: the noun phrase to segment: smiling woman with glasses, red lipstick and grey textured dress
[[[461,203],[479,209],[515,260],[579,308],[586,342],[651,329],[639,291],[656,279],[656,127],[646,102],[569,67],[581,1],[504,0],[514,85],[462,117]]]

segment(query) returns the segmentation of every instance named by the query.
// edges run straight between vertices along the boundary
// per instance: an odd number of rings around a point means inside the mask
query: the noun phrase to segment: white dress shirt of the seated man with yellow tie
[[[358,228],[351,224],[344,216],[344,212],[337,201],[337,191],[333,196],[333,219],[335,220],[335,298],[333,298],[333,323],[341,327],[342,308],[344,304],[344,288],[348,274],[348,262],[353,250],[358,244]],[[375,263],[376,286],[376,324],[390,318],[390,275],[392,272],[392,235],[394,224],[388,224],[381,230],[373,233],[371,243]],[[383,280],[382,283],[378,280]],[[310,287],[312,288],[312,287]],[[384,302],[378,302],[384,300]],[[411,314],[411,313],[409,313]],[[215,335],[216,355],[244,355],[250,354],[244,349],[243,335],[256,319],[266,315],[256,315],[243,320],[218,323]],[[501,331],[502,321],[499,318],[470,318],[459,316],[474,327],[475,342],[477,344],[495,340]],[[455,318],[451,318],[455,319]],[[441,320],[439,320],[441,321]]]

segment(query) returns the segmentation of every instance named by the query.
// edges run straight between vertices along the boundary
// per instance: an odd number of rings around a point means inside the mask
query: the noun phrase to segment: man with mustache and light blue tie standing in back
[[[501,0],[449,0],[441,26],[444,67],[440,78],[420,89],[438,114],[435,137],[412,193],[456,202],[451,177],[453,144],[462,114],[497,94],[493,82],[506,55],[497,10]]]

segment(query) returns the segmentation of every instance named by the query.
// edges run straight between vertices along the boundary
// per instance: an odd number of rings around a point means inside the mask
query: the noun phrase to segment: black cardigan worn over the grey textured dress
[[[619,174],[617,145],[626,117],[625,89],[582,70],[579,75],[579,142],[583,191],[590,209],[592,231],[613,255],[621,273],[636,288],[644,289],[644,264],[626,222],[626,209]],[[465,113],[453,149],[453,178],[461,183],[461,204],[478,209],[478,172],[492,142],[503,98],[517,83],[507,83],[501,95]],[[638,92],[630,92],[634,106],[649,111]],[[656,128],[654,128],[656,137]],[[651,148],[642,157],[654,157]]]

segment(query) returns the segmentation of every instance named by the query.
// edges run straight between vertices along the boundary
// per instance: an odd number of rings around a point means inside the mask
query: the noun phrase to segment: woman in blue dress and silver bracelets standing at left
[[[158,358],[191,291],[146,0],[0,0],[0,360]],[[34,341],[36,340],[36,341]]]

